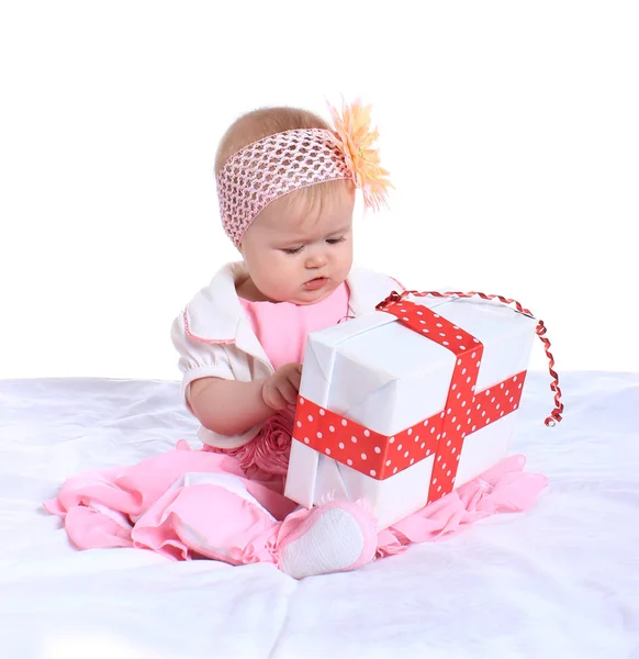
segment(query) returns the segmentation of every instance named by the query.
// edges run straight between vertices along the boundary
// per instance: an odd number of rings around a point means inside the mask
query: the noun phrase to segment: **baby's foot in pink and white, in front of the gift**
[[[371,561],[377,544],[372,515],[358,503],[332,501],[282,522],[276,560],[282,572],[295,579],[346,572]]]

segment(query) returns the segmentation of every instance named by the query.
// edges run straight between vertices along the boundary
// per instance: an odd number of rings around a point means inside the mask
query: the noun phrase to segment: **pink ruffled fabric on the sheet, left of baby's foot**
[[[236,479],[259,505],[224,487],[181,484],[192,473]],[[272,561],[267,539],[296,506],[245,479],[234,458],[192,450],[181,440],[136,465],[72,476],[44,507],[61,517],[78,549],[136,547],[173,560],[205,556],[239,565]]]

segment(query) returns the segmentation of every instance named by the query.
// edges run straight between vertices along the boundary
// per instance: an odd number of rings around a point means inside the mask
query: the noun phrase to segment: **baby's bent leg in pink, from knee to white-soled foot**
[[[351,570],[372,559],[374,521],[358,504],[330,502],[279,522],[248,485],[232,474],[186,474],[138,520],[134,546],[234,566],[276,563],[298,579]]]

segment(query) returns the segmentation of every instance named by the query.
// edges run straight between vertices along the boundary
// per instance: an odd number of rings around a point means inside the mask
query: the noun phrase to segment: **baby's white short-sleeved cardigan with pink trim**
[[[189,411],[187,393],[193,380],[214,377],[249,382],[274,372],[237,297],[235,283],[243,278],[243,261],[227,264],[173,321],[171,340],[180,354],[181,396]],[[352,268],[346,282],[350,316],[373,311],[392,291],[404,290],[391,277],[365,268]],[[250,442],[260,427],[229,436],[200,426],[198,436],[210,446],[237,448]]]

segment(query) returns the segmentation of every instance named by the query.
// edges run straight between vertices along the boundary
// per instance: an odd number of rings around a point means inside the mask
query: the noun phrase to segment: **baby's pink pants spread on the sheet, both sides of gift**
[[[512,456],[444,499],[380,532],[377,557],[435,540],[498,512],[531,507],[546,477],[524,472]],[[130,467],[69,478],[45,504],[64,520],[80,549],[139,547],[175,560],[206,557],[231,565],[277,562],[278,537],[305,511],[268,485],[245,478],[234,457],[173,450]]]

